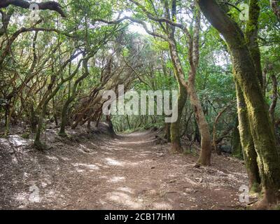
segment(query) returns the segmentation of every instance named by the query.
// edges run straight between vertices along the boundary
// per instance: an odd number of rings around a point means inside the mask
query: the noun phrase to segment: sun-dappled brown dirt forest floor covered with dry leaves
[[[47,130],[51,148],[37,151],[13,134],[0,139],[0,209],[243,209],[248,182],[241,161],[170,154],[155,132],[109,137]]]

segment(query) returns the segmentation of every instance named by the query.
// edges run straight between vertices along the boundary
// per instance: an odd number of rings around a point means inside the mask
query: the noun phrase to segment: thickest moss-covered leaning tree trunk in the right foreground
[[[258,168],[265,193],[260,204],[268,206],[278,203],[280,200],[280,157],[267,104],[246,38],[237,23],[221,9],[215,0],[197,1],[209,22],[224,36],[230,49],[236,85],[240,87],[244,97],[248,125],[255,152],[258,155]],[[244,133],[240,132],[241,139],[243,135]]]

